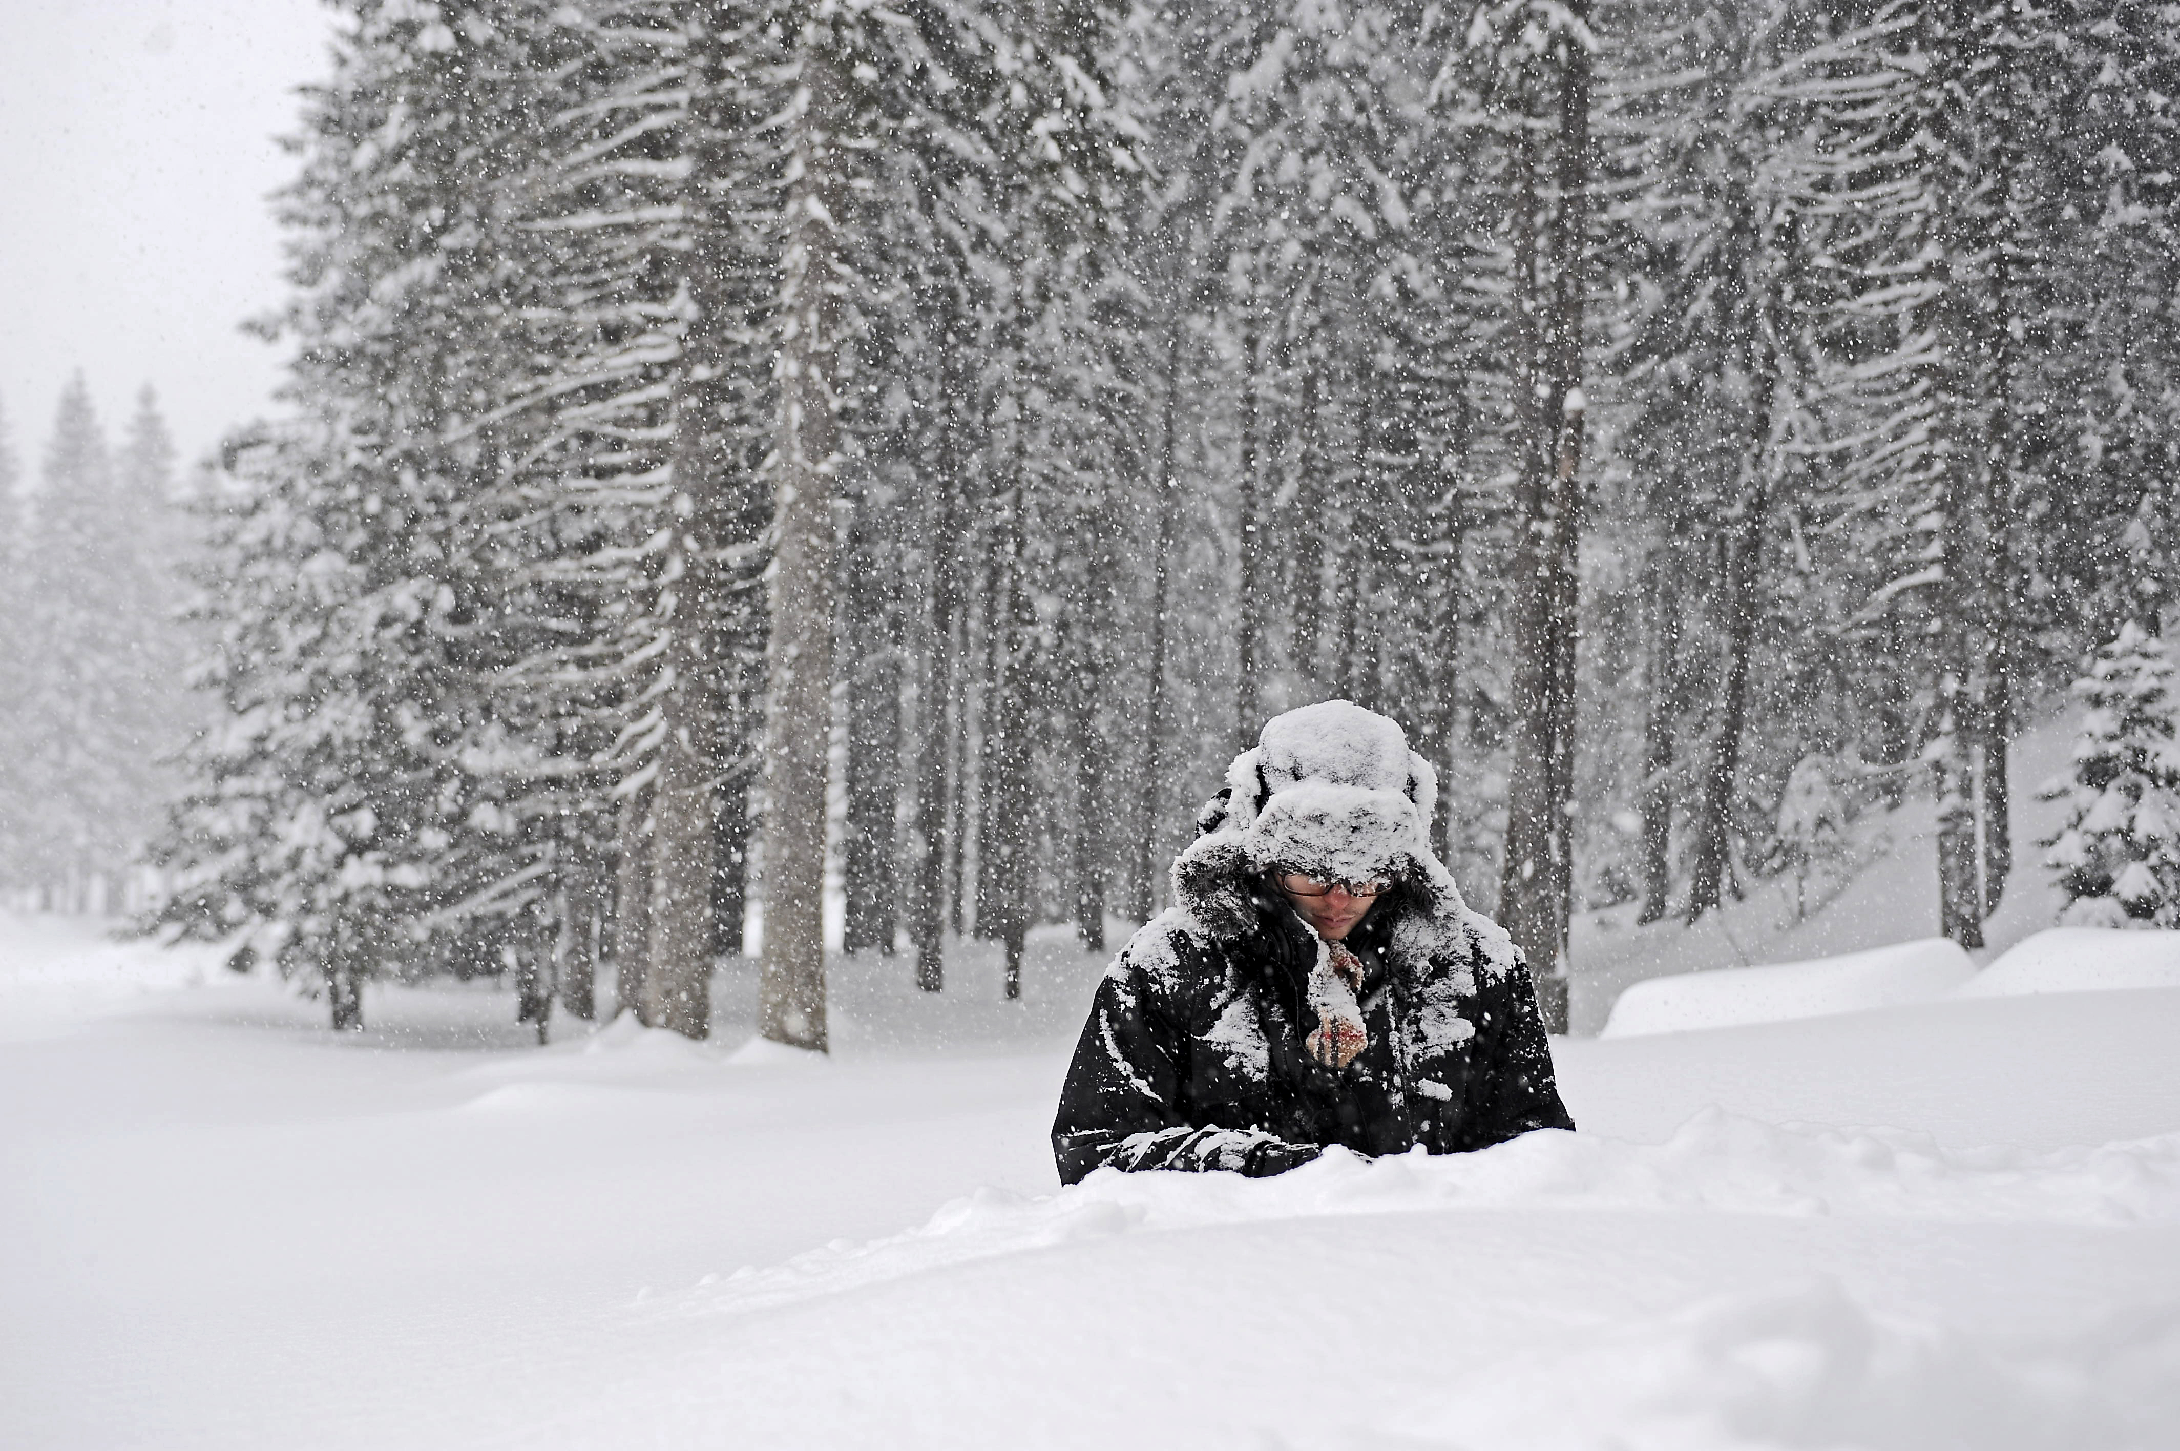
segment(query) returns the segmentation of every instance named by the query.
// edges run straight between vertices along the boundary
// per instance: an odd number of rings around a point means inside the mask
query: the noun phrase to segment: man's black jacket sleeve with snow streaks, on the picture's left
[[[1317,1159],[1321,1150],[1315,1143],[1190,1124],[1186,1058],[1186,1030],[1131,945],[1097,988],[1059,1091],[1059,1117],[1053,1122],[1059,1183],[1079,1183],[1101,1167],[1264,1176]]]

